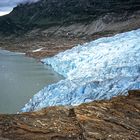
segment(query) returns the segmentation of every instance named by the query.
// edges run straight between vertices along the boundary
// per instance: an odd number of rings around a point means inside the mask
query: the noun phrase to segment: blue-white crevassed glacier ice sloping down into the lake
[[[41,61],[65,79],[44,87],[22,112],[127,95],[140,89],[140,29],[77,45]]]

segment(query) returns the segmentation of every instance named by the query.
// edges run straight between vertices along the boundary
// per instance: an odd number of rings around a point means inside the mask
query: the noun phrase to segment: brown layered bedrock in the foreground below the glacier
[[[140,91],[109,101],[0,115],[2,140],[139,140]]]

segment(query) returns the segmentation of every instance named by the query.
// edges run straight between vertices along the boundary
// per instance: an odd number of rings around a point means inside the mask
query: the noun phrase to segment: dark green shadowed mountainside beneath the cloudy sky
[[[139,10],[140,0],[40,0],[19,4],[9,15],[1,17],[0,33],[20,34],[36,28],[89,24],[100,17],[104,17],[105,23],[125,21]]]

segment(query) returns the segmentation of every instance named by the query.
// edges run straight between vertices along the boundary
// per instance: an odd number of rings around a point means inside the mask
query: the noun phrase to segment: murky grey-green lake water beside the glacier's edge
[[[16,113],[44,86],[63,77],[23,54],[0,50],[0,113]]]

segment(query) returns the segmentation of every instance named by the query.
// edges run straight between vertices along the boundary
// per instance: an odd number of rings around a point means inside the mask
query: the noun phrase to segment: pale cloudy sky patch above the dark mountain
[[[37,2],[38,0],[0,0],[0,16],[8,14],[19,3]]]

